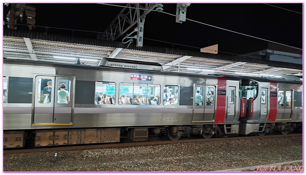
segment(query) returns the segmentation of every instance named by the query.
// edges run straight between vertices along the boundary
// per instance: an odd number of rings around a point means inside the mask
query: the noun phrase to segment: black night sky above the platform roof
[[[162,4],[163,12],[176,14],[175,3]],[[104,32],[122,9],[122,7],[96,3],[30,3],[30,5],[36,8],[35,25],[37,26],[96,32]],[[116,5],[125,6],[126,3]],[[186,18],[302,48],[303,15],[300,13],[302,13],[303,4],[271,5],[299,13],[263,3],[192,3],[187,7]],[[140,13],[142,12],[140,11]],[[132,29],[135,27],[136,25]],[[36,27],[35,30],[46,32],[43,27]],[[47,32],[72,35],[71,30],[49,28]],[[95,38],[96,33],[73,31],[73,35]],[[136,32],[132,35],[136,35]],[[117,41],[121,40],[122,38],[119,38]],[[266,41],[189,20],[182,24],[176,23],[175,16],[165,13],[151,11],[147,14],[144,23],[144,45],[199,51],[198,48],[218,44],[219,53],[243,54],[248,52],[250,48],[263,43]]]

